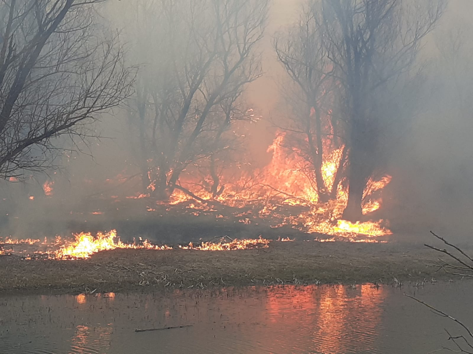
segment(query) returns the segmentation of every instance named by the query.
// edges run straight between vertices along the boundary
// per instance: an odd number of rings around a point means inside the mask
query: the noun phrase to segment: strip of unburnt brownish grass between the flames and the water
[[[0,256],[0,294],[157,291],[170,287],[272,284],[394,284],[448,280],[421,244],[272,242],[243,251],[113,250],[88,260]]]

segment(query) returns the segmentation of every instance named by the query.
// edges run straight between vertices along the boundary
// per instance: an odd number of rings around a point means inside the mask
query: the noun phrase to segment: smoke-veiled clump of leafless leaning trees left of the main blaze
[[[160,198],[167,198],[185,169],[207,161],[210,192],[218,194],[219,155],[236,140],[230,128],[236,120],[253,119],[241,96],[261,75],[255,45],[263,37],[267,1],[151,1],[145,6],[135,9],[141,19],[135,31],[143,36],[136,60],[144,69],[138,109],[131,112],[140,126],[143,187],[152,184]]]

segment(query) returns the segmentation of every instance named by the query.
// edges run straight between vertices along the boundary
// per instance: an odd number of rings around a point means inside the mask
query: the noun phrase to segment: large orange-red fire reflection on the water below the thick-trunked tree
[[[279,322],[289,332],[298,331],[310,337],[310,349],[317,353],[343,353],[357,337],[363,337],[364,349],[369,351],[376,340],[376,327],[381,321],[379,305],[384,299],[384,288],[372,284],[316,290],[281,287],[268,291],[267,313],[269,320]],[[287,339],[282,336],[273,340],[287,346]]]

